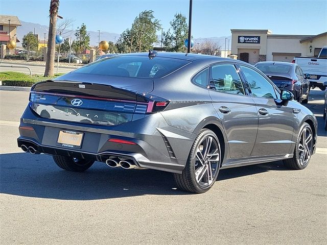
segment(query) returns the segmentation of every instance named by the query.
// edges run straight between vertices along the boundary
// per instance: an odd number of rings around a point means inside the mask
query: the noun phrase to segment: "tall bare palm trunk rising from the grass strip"
[[[59,9],[59,0],[50,1],[50,22],[48,34],[48,52],[46,52],[46,62],[44,77],[53,76],[56,52],[56,24]]]

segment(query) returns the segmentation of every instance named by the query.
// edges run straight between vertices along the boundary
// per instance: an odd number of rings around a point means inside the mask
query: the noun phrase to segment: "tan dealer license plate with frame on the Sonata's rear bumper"
[[[83,138],[82,132],[59,130],[56,144],[66,148],[81,149]]]

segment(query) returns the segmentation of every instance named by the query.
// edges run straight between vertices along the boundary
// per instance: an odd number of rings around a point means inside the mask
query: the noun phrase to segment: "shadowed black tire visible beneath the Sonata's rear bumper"
[[[53,160],[62,169],[73,171],[73,172],[83,172],[93,165],[94,161],[77,159],[73,157],[65,157],[54,155]]]

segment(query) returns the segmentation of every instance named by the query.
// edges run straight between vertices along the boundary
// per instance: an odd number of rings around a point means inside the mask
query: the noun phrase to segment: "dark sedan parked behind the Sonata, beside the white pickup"
[[[301,68],[288,62],[264,61],[254,65],[279,88],[291,91],[295,99],[303,104],[308,103],[310,93],[309,74],[303,74]]]

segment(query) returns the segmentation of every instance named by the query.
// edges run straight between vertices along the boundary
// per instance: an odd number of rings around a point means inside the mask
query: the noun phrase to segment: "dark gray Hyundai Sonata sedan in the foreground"
[[[202,193],[219,169],[275,160],[303,169],[315,153],[313,113],[238,60],[116,55],[33,85],[29,100],[18,146],[69,171],[95,161],[156,169]]]

